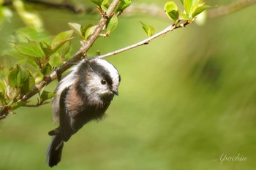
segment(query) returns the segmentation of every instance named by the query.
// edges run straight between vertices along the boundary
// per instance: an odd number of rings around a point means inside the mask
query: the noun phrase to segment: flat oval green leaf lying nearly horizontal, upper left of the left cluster
[[[37,45],[34,45],[34,43],[31,44],[28,42],[20,42],[14,47],[16,50],[18,50],[18,52],[22,53],[23,55],[37,58],[42,58],[44,56],[41,48]]]

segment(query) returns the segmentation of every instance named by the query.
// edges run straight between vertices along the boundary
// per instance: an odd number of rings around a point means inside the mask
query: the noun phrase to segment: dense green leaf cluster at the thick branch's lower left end
[[[61,32],[50,42],[35,42],[26,38],[26,42],[15,42],[14,48],[20,53],[20,60],[13,66],[0,66],[0,102],[2,106],[18,101],[33,90],[37,82],[48,76],[57,66],[66,61],[70,50],[72,30]],[[37,105],[52,98],[53,93],[42,91]],[[28,102],[13,102],[11,109]],[[11,110],[11,111],[12,111]]]

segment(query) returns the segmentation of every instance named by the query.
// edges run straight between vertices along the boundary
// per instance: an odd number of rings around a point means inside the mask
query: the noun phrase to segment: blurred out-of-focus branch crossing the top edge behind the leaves
[[[42,0],[27,0],[24,3],[39,5],[43,7],[50,7],[53,9],[63,9],[67,11],[72,11],[75,13],[86,13],[86,14],[96,14],[97,10],[92,9],[91,7],[85,7],[83,4],[71,4],[71,3],[54,3],[50,1]],[[238,10],[249,7],[252,4],[255,4],[256,0],[238,0],[233,4],[228,4],[226,6],[220,6],[217,8],[208,10],[208,18],[218,18],[223,15],[228,15],[230,13],[236,12]],[[12,1],[4,1],[4,6],[11,6]],[[40,7],[37,7],[40,9]],[[157,6],[157,4],[147,4],[147,3],[132,3],[129,8],[124,11],[124,15],[137,15],[137,14],[146,14],[152,15],[157,18],[165,18],[166,14],[164,10]]]

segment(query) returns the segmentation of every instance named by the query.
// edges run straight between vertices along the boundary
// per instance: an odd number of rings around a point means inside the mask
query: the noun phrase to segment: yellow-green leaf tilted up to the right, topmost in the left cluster
[[[64,45],[65,42],[68,42],[70,39],[72,39],[71,36],[73,32],[73,30],[64,31],[54,37],[50,45],[53,53],[56,52],[56,50],[59,50],[59,48]]]

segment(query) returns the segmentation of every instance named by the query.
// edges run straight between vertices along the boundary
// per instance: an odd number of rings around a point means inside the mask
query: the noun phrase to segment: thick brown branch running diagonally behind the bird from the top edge
[[[32,96],[37,94],[43,87],[45,87],[45,85],[48,85],[50,82],[55,80],[58,77],[58,75],[65,72],[67,69],[69,69],[71,66],[73,66],[77,61],[79,61],[81,58],[83,58],[83,56],[86,55],[86,52],[89,50],[91,45],[93,45],[93,43],[95,42],[97,37],[99,37],[100,32],[105,28],[105,24],[107,23],[108,18],[110,18],[110,16],[113,14],[113,11],[116,8],[116,6],[118,5],[119,1],[120,0],[113,0],[113,2],[110,4],[110,7],[108,8],[108,11],[105,13],[105,15],[102,15],[102,18],[99,20],[99,23],[98,23],[97,28],[95,29],[94,33],[91,34],[91,36],[86,41],[86,43],[82,47],[80,47],[80,49],[78,50],[78,53],[76,53],[69,61],[67,61],[67,63],[64,63],[58,69],[53,71],[50,74],[50,76],[45,77],[41,82],[39,82],[37,85],[35,85],[35,87],[33,88],[33,90],[31,90],[30,93],[27,93],[22,98],[20,98],[18,101],[14,101],[14,100],[10,101],[9,104],[2,107],[0,109],[0,119],[6,117],[9,114],[9,112],[12,111],[11,110],[12,104],[14,104],[14,103],[18,104],[20,102],[27,101],[29,98],[31,98]]]

